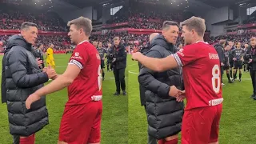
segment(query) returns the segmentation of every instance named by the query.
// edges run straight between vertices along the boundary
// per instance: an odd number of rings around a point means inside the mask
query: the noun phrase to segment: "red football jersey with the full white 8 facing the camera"
[[[184,46],[174,58],[183,66],[186,110],[214,106],[223,101],[220,61],[213,46],[196,42]]]

